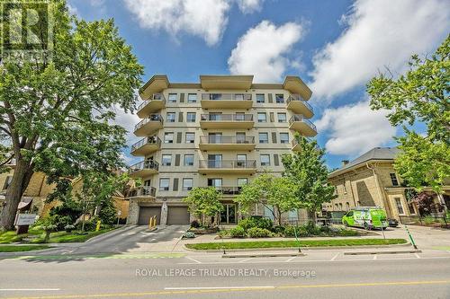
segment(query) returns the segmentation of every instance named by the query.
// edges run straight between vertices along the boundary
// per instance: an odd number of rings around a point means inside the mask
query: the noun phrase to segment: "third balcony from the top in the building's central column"
[[[253,151],[254,136],[201,136],[202,151]]]

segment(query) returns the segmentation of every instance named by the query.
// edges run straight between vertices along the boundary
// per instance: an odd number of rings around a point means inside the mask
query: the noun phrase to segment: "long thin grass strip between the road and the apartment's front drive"
[[[341,240],[301,240],[301,247],[327,247],[327,246],[359,246],[359,245],[391,245],[406,243],[405,239],[341,239]],[[251,249],[251,248],[297,248],[297,241],[249,241],[249,242],[211,242],[186,244],[194,250],[221,250],[221,249]]]

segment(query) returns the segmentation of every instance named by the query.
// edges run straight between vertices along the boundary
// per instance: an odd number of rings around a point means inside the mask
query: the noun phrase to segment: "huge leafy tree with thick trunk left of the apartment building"
[[[112,20],[78,20],[64,0],[49,1],[49,12],[53,55],[4,59],[0,65],[0,131],[15,160],[0,215],[3,229],[14,227],[35,171],[45,172],[51,182],[121,166],[126,131],[112,124],[113,109],[133,110],[141,84],[143,68]]]

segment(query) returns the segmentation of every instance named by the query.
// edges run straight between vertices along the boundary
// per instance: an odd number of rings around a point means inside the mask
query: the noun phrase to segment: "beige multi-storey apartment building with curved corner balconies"
[[[254,84],[253,75],[200,75],[200,83],[178,84],[155,75],[139,94],[134,134],[142,139],[130,153],[142,161],[129,172],[143,186],[130,193],[129,224],[148,224],[152,215],[158,224],[188,224],[193,216],[182,199],[207,186],[222,193],[217,220],[235,224],[240,187],[265,170],[281,174],[282,155],[298,149],[295,132],[317,135],[311,90],[297,76]],[[254,213],[272,215],[262,207]]]

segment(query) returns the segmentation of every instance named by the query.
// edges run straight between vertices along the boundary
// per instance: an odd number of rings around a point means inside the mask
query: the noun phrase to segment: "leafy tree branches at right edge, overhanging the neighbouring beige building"
[[[410,187],[430,186],[437,194],[450,176],[449,51],[450,36],[431,57],[413,55],[405,75],[381,74],[367,84],[371,108],[391,110],[392,126],[406,133],[396,138],[401,154],[395,170]],[[427,126],[426,136],[406,127],[418,122]]]

